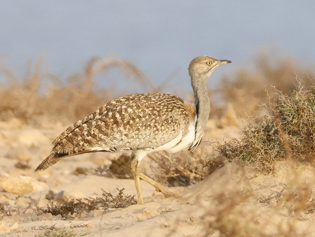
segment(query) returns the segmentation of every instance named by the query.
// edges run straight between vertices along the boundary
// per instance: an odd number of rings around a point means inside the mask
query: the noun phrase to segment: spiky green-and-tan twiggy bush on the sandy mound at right
[[[310,80],[311,81],[311,80]],[[255,163],[272,170],[275,161],[292,157],[311,161],[315,155],[315,84],[306,89],[297,79],[293,92],[277,91],[261,108],[267,114],[256,123],[244,126],[239,139],[217,145],[219,156],[227,160]]]

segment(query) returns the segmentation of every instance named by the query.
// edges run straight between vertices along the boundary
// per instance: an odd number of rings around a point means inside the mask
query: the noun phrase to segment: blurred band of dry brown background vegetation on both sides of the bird
[[[169,86],[169,76],[158,86],[140,68],[127,60],[108,57],[92,57],[82,72],[61,80],[43,67],[43,57],[35,65],[25,66],[22,78],[17,71],[10,70],[1,62],[1,74],[5,78],[0,87],[0,120],[19,118],[25,123],[42,126],[44,121],[60,121],[64,125],[75,122],[97,110],[108,101],[133,93],[132,88],[141,87],[146,92],[163,92],[167,87],[172,93],[193,103],[192,92],[181,91]],[[220,118],[227,107],[233,108],[240,118],[259,116],[259,104],[276,90],[287,93],[295,89],[296,77],[304,86],[310,85],[314,71],[305,68],[291,56],[275,56],[261,51],[236,72],[221,77],[215,88],[209,90],[211,99],[210,118]],[[188,63],[188,62],[187,62]],[[119,70],[115,70],[118,68]],[[114,69],[114,70],[113,70]],[[116,72],[117,75],[112,72]],[[110,74],[112,84],[98,86],[95,78]],[[123,89],[117,88],[117,80],[127,78]],[[183,79],[184,80],[184,79]],[[189,80],[187,76],[185,80]],[[132,86],[131,86],[132,85]],[[121,88],[121,87],[120,87]]]

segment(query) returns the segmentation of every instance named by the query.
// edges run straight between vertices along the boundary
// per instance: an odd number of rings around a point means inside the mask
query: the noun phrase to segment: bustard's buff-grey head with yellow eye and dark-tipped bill
[[[230,60],[219,60],[210,56],[199,56],[190,62],[188,72],[191,78],[204,78],[207,80],[215,68],[230,62]]]

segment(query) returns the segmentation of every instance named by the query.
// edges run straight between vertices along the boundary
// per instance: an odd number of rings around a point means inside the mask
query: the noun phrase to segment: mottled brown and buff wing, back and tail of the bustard
[[[61,133],[52,143],[49,162],[37,170],[86,152],[155,149],[185,133],[194,119],[190,110],[181,98],[163,93],[115,99]]]

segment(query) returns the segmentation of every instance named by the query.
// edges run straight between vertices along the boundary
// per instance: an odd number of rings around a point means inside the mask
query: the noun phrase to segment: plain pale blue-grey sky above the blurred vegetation
[[[313,0],[2,0],[0,22],[0,54],[10,57],[4,59],[10,68],[23,72],[43,52],[45,65],[61,78],[82,71],[95,55],[129,59],[156,85],[179,68],[171,86],[185,90],[188,64],[199,55],[233,62],[212,81],[264,48],[315,62]],[[100,86],[108,86],[112,78],[102,76]]]

